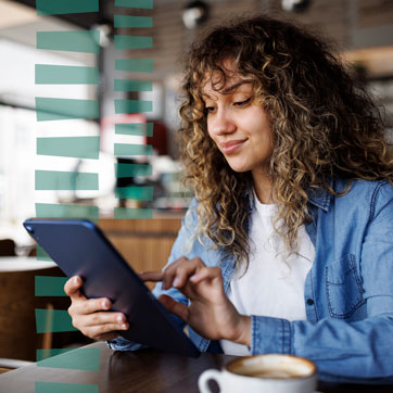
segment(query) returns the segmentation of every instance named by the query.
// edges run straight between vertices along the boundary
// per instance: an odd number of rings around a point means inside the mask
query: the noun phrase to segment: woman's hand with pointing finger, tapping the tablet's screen
[[[240,315],[225,294],[220,268],[207,267],[200,258],[181,257],[163,271],[147,271],[140,277],[163,281],[163,289],[174,287],[185,294],[189,306],[165,294],[159,300],[202,337],[251,345],[251,318]]]

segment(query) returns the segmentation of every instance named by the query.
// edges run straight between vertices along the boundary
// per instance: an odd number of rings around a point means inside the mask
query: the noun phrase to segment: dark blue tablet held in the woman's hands
[[[86,297],[107,297],[129,329],[122,337],[180,355],[199,356],[174,315],[151,294],[103,232],[87,219],[27,219],[25,229],[68,277],[80,276]]]

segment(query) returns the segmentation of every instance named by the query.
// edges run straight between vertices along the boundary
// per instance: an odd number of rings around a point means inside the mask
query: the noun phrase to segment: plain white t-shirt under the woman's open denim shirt
[[[282,239],[275,233],[272,218],[277,205],[262,204],[255,195],[251,214],[250,264],[236,272],[228,297],[242,315],[262,315],[288,320],[306,319],[304,283],[315,257],[314,245],[301,226],[297,231],[299,252],[286,256]],[[228,355],[245,356],[245,345],[220,341]]]

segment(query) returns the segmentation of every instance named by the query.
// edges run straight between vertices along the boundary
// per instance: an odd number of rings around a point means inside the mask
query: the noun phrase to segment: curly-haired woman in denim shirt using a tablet
[[[393,376],[393,162],[384,125],[328,46],[266,16],[189,53],[178,132],[191,204],[154,294],[201,351],[289,353],[329,376]],[[65,291],[114,350],[125,316]],[[116,319],[118,318],[118,319]]]

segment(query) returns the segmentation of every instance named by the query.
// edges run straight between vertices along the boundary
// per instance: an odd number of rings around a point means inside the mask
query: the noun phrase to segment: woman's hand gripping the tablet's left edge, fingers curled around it
[[[79,290],[83,284],[81,278],[74,276],[64,286],[64,292],[71,297],[68,314],[75,328],[93,340],[112,340],[129,328],[123,313],[107,312],[112,306],[109,299],[84,296]]]

